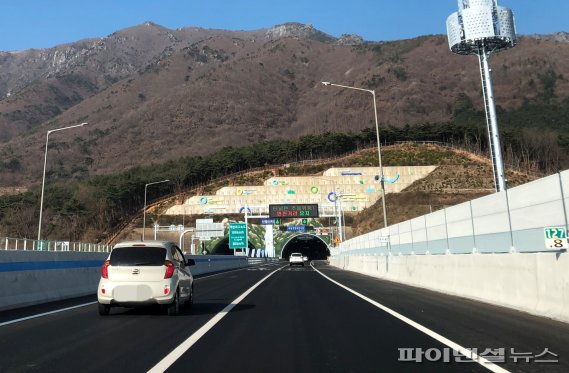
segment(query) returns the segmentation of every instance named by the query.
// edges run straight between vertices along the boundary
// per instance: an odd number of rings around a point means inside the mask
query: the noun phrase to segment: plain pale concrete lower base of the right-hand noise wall
[[[569,322],[567,253],[336,256],[330,262],[381,279]]]

